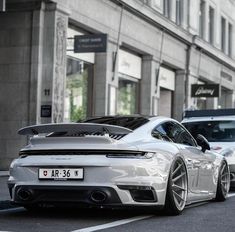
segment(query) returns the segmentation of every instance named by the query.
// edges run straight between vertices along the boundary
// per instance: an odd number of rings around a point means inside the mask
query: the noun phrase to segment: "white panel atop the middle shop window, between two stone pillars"
[[[119,50],[118,72],[141,79],[141,57]]]

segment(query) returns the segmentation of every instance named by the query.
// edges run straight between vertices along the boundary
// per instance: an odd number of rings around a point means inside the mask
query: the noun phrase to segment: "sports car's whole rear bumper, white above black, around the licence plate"
[[[61,166],[61,160],[65,158],[68,161],[63,162],[68,163]],[[24,159],[39,164],[12,165],[8,186],[11,199],[17,204],[41,202],[74,202],[101,206],[165,204],[168,172],[165,171],[167,170],[165,166],[159,167],[157,157],[135,159],[134,162],[133,159],[107,158],[100,155],[50,156],[50,158],[35,156]],[[40,164],[42,160],[43,164]],[[60,165],[52,165],[51,162],[58,162]],[[45,166],[45,163],[50,165]],[[39,179],[39,169],[45,167],[83,168],[83,180]],[[26,192],[21,192],[20,197],[21,190]]]

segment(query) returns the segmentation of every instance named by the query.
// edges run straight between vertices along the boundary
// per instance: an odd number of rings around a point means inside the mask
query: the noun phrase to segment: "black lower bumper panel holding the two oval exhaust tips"
[[[12,186],[9,186],[9,189],[11,188]],[[121,200],[114,189],[102,186],[16,186],[14,188],[14,202],[16,204],[45,202],[73,202],[91,205],[121,204]]]

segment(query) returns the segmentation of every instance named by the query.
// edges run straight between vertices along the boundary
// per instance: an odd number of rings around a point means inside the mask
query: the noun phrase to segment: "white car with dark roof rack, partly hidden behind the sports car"
[[[182,124],[195,137],[202,134],[211,150],[226,157],[235,187],[235,109],[186,111]]]

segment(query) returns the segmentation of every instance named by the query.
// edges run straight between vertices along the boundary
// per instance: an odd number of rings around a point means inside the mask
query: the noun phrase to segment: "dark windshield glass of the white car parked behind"
[[[196,138],[202,134],[209,142],[235,141],[235,121],[204,121],[183,123]]]

